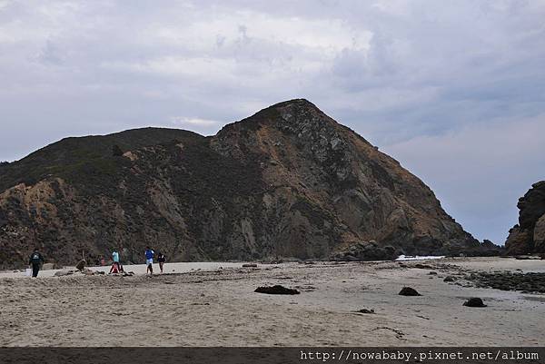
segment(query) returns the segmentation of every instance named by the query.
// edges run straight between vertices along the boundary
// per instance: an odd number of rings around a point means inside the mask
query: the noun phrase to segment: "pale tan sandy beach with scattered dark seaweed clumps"
[[[438,275],[410,268],[417,263],[434,266]],[[169,273],[152,278],[138,266],[125,267],[136,275],[124,278],[46,277],[54,271],[45,271],[29,279],[2,273],[0,346],[545,345],[545,295],[443,281],[447,274],[468,270],[545,271],[545,261],[403,264],[317,262],[243,269],[242,263],[167,263]],[[253,292],[272,284],[301,294]],[[403,286],[423,296],[399,296]],[[488,307],[462,306],[474,296]],[[376,313],[355,312],[360,309]]]

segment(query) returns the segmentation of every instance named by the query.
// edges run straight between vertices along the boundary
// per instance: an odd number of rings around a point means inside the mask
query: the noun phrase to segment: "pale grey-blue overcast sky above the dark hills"
[[[545,179],[545,1],[0,0],[0,161],[304,97],[503,243]]]

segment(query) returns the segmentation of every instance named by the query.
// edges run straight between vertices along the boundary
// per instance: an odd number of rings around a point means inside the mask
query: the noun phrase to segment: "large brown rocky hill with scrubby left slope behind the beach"
[[[0,260],[60,263],[146,245],[170,260],[476,253],[417,177],[306,100],[213,137],[139,129],[69,138],[0,166]]]

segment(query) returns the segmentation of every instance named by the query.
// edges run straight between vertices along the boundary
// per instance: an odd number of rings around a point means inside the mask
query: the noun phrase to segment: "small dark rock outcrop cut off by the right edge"
[[[519,223],[510,229],[505,241],[510,254],[545,252],[545,181],[531,187],[519,199]]]

